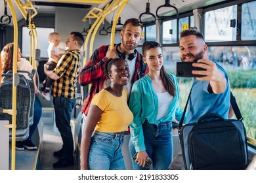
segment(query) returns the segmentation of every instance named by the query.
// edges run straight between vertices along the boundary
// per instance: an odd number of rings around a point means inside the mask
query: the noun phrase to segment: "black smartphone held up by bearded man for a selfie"
[[[204,75],[193,75],[192,71],[205,71],[200,67],[192,66],[193,62],[177,62],[176,63],[176,76],[177,77],[203,77]]]

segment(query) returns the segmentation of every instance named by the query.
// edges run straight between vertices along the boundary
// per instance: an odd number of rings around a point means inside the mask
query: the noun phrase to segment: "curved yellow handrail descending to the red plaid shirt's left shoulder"
[[[102,24],[102,22],[105,20],[106,16],[108,14],[110,14],[110,12],[112,12],[112,7],[114,7],[114,5],[116,5],[116,3],[118,2],[119,0],[114,0],[112,1],[112,3],[108,6],[108,7],[105,7],[103,12],[102,12],[102,17],[100,18],[100,20],[98,21],[96,27],[95,27],[95,31],[93,32],[93,35],[91,37],[91,42],[90,42],[90,52],[89,52],[89,55],[91,56],[93,54],[93,43],[94,43],[94,40],[95,40],[95,36],[96,36],[96,33],[98,31],[98,27],[100,27],[100,25]],[[116,6],[117,7],[117,6]]]

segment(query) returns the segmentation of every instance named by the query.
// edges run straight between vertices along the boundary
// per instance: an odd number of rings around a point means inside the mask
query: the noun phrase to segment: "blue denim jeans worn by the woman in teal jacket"
[[[162,122],[158,125],[142,124],[146,153],[153,161],[154,170],[167,170],[173,159],[173,137],[171,122]],[[131,158],[135,155],[135,147],[129,142]],[[134,170],[146,170],[132,160]]]

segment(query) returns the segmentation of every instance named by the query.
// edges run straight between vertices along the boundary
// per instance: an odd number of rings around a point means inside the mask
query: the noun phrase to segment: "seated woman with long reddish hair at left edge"
[[[14,50],[14,44],[9,43],[7,44],[2,52],[1,52],[1,58],[2,58],[2,71],[3,73],[7,73],[8,71],[13,70],[13,50]],[[29,73],[32,72],[32,65],[30,64],[30,62],[24,58],[22,58],[22,53],[20,52],[20,48],[18,48],[18,65],[17,65],[17,69],[20,71],[28,71]],[[20,73],[22,75],[24,75],[28,80],[30,80],[30,77],[28,76],[27,73]],[[36,82],[35,82],[35,75],[33,76],[33,81],[35,84],[35,93],[38,93],[38,89],[36,86]],[[30,135],[28,136],[28,139],[26,139],[26,141],[22,141],[22,142],[16,142],[16,150],[36,150],[37,146],[35,146],[32,142],[32,135],[35,132],[35,129],[37,129],[37,125],[40,121],[41,118],[41,114],[42,114],[42,107],[41,107],[41,102],[39,101],[38,97],[35,97],[35,103],[34,103],[34,107],[33,107],[33,125],[30,126]]]

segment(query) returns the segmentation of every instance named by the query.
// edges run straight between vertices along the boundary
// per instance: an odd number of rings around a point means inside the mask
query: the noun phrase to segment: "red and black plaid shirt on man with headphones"
[[[106,58],[106,52],[109,45],[100,46],[93,52],[91,58],[87,61],[83,69],[79,73],[79,84],[81,86],[86,86],[91,84],[91,89],[87,95],[87,98],[83,102],[81,111],[87,115],[89,106],[93,96],[102,90],[106,76],[104,74],[104,63],[108,61]],[[133,75],[133,80],[131,83],[139,80],[142,76],[148,73],[148,67],[146,67],[144,73],[141,73],[141,66],[143,64],[142,55],[137,52],[136,63],[135,63],[135,73]]]

